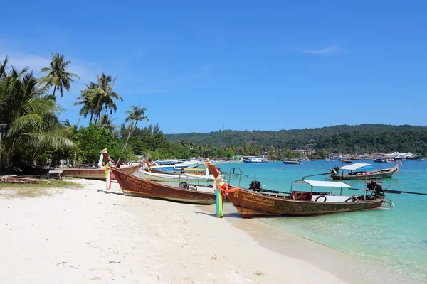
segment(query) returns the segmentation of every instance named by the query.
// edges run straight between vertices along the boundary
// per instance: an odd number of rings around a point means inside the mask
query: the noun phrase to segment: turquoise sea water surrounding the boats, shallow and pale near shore
[[[363,161],[360,163],[371,163]],[[390,190],[427,193],[427,161],[404,160],[399,173],[383,179]],[[270,190],[290,191],[290,183],[302,176],[327,173],[337,161],[309,161],[301,165],[282,162],[265,164],[219,164],[221,170],[241,168],[248,178],[242,178],[241,187],[248,187],[254,175]],[[373,163],[375,168],[391,168],[394,163]],[[228,175],[226,176],[228,178]],[[320,175],[312,180],[325,180]],[[231,178],[236,185],[238,178]],[[357,188],[364,181],[347,181]],[[427,196],[408,194],[386,195],[394,207],[359,212],[327,214],[315,217],[258,218],[307,239],[343,251],[368,263],[376,263],[411,278],[427,283]]]

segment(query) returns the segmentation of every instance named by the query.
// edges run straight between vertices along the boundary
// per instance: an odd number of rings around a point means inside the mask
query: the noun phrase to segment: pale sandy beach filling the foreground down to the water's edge
[[[1,283],[415,283],[230,213],[77,180],[0,190]]]

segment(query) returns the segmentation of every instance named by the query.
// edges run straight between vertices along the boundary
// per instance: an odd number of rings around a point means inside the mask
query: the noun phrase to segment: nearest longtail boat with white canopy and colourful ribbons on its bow
[[[214,167],[209,165],[209,167]],[[211,168],[213,170],[213,168]],[[363,195],[356,195],[354,187],[344,182],[297,180],[292,182],[289,193],[264,190],[260,182],[251,184],[251,189],[219,185],[228,192],[227,198],[233,203],[243,218],[272,216],[310,216],[337,212],[351,212],[381,207],[384,201],[384,190],[381,182],[371,181]],[[293,185],[310,185],[310,190],[293,190]],[[322,190],[314,190],[321,187]],[[330,190],[326,190],[330,188]],[[335,195],[339,188],[339,195]],[[342,195],[343,190],[353,190],[352,195]]]

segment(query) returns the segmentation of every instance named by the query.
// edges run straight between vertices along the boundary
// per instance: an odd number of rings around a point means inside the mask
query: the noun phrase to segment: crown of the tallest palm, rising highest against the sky
[[[49,63],[50,67],[41,68],[41,72],[47,72],[48,75],[41,77],[40,82],[46,83],[47,87],[53,87],[53,95],[55,95],[56,89],[60,90],[60,97],[63,96],[63,89],[70,91],[71,83],[74,82],[73,77],[80,79],[78,75],[67,72],[68,65],[71,61],[65,61],[65,57],[62,54],[52,54],[52,61]]]

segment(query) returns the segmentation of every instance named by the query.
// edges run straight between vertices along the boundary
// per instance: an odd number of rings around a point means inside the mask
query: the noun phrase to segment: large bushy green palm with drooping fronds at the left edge
[[[58,121],[55,96],[46,91],[28,68],[18,72],[12,67],[0,80],[0,124],[10,126],[2,141],[8,167],[12,159],[34,163],[48,148],[73,146],[70,129]]]

